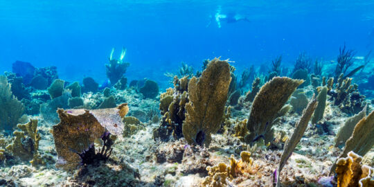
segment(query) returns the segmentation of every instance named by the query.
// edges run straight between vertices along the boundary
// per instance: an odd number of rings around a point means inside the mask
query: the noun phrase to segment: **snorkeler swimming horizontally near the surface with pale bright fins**
[[[221,14],[221,7],[217,9],[217,13],[215,13],[214,17],[209,16],[211,18],[211,21],[206,25],[206,27],[210,26],[213,21],[217,23],[218,28],[221,28],[221,22],[226,22],[227,24],[236,23],[238,21],[248,21],[249,19],[247,17],[244,17],[242,15],[235,14],[233,12],[224,15]]]

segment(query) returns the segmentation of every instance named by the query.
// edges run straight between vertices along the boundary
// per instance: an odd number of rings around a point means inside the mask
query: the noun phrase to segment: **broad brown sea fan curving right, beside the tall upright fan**
[[[265,142],[272,139],[271,127],[278,111],[302,83],[303,80],[275,77],[261,87],[253,100],[251,114],[249,114],[247,143],[253,143],[260,138],[264,139]]]

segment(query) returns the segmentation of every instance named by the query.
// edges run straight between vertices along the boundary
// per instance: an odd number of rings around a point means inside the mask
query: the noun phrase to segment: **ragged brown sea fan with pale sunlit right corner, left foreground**
[[[92,150],[94,141],[107,133],[122,136],[124,117],[129,108],[127,103],[116,108],[94,109],[58,109],[60,123],[53,126],[53,137],[59,160],[57,167],[73,170],[82,163],[80,154]]]

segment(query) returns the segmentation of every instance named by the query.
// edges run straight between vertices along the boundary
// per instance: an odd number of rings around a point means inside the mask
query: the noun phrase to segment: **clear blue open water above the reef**
[[[217,9],[250,21],[214,22]],[[0,1],[0,72],[15,60],[57,66],[60,78],[105,80],[107,58],[127,48],[130,80],[168,80],[181,62],[222,56],[240,70],[306,51],[335,60],[339,46],[374,48],[374,1]]]

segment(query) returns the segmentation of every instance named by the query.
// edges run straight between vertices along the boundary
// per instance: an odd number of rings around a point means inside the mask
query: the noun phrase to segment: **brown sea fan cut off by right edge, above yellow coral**
[[[353,151],[364,156],[374,145],[374,111],[362,118],[353,130],[352,136],[346,141],[346,146],[339,158],[346,157]],[[336,164],[332,165],[330,172],[334,171]]]

